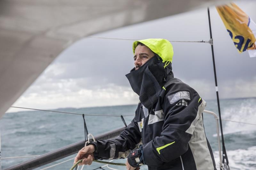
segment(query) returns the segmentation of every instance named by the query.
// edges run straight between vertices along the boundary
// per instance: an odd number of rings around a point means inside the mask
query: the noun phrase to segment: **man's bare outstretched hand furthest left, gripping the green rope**
[[[93,152],[95,151],[94,145],[88,145],[86,147],[83,147],[76,155],[74,164],[80,160],[83,159],[83,161],[78,164],[80,165],[91,165],[93,160]]]

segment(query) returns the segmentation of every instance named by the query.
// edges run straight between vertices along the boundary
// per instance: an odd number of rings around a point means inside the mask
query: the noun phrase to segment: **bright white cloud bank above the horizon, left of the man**
[[[83,81],[80,79],[79,81]],[[35,83],[13,106],[37,109],[54,109],[63,107],[98,107],[113,105],[138,104],[138,95],[130,87],[106,84],[102,87],[80,88],[79,81],[48,80],[38,85]],[[23,111],[11,108],[8,112]]]

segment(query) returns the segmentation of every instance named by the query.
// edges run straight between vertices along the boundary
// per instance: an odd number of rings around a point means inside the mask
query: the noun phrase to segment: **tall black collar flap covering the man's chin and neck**
[[[126,77],[130,82],[132,90],[140,96],[141,103],[146,108],[150,108],[158,100],[166,73],[164,64],[157,56],[154,56],[138,70],[133,68]]]

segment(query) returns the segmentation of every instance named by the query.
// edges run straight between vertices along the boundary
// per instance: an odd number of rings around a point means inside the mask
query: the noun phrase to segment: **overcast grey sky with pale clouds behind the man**
[[[256,1],[235,2],[256,21]],[[256,57],[239,54],[215,7],[210,7],[220,99],[256,97]],[[207,9],[91,35],[121,39],[208,41]],[[83,38],[65,49],[12,105],[37,109],[137,104],[125,75],[134,67],[130,40]],[[207,100],[216,99],[211,45],[172,42],[174,77]],[[10,108],[7,112],[23,111]]]

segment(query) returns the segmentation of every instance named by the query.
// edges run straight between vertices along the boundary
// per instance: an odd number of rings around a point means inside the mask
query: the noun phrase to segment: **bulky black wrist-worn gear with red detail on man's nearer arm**
[[[140,167],[141,165],[144,165],[142,146],[140,146],[140,149],[132,150],[129,153],[127,160],[132,167],[137,168]]]

